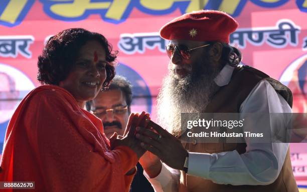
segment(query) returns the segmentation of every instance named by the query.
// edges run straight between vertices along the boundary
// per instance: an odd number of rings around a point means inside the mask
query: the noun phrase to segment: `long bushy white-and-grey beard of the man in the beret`
[[[179,79],[170,70],[157,99],[159,124],[175,136],[184,133],[186,128],[181,127],[181,113],[203,112],[219,88],[213,81],[218,72],[214,69],[199,77],[189,74]]]

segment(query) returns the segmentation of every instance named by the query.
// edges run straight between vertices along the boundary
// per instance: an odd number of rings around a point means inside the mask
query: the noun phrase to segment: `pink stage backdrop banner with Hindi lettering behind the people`
[[[107,37],[119,51],[117,73],[133,84],[132,111],[156,118],[156,97],[167,73],[167,41],[159,29],[182,14],[221,10],[240,24],[231,43],[243,63],[293,92],[293,112],[307,112],[307,0],[2,0],[0,1],[0,151],[20,100],[40,84],[37,58],[44,42],[82,27]],[[293,172],[307,187],[307,145],[291,144]]]

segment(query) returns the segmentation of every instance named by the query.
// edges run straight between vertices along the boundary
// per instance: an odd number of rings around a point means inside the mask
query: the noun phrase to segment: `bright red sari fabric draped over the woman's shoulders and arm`
[[[110,150],[101,120],[68,91],[43,85],[8,125],[0,180],[35,181],[36,191],[128,191],[136,163],[129,147]]]

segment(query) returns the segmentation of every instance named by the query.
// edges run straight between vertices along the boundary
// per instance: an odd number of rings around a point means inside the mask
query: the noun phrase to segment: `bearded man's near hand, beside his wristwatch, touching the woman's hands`
[[[170,167],[183,170],[188,151],[182,146],[180,140],[152,121],[149,121],[148,125],[157,133],[150,129],[137,128],[136,138],[142,141],[141,146],[157,155]]]

